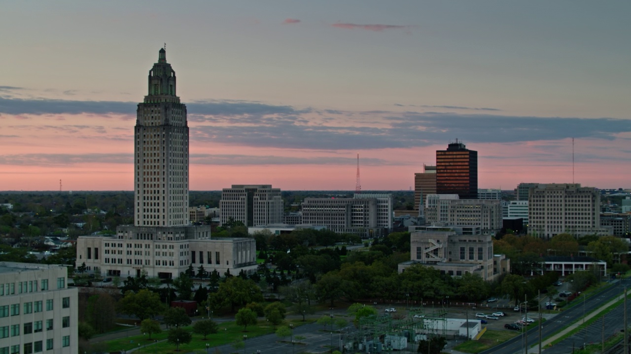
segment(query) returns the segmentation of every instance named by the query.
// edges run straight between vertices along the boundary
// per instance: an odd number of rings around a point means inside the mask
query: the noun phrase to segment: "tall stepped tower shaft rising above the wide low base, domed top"
[[[160,49],[134,132],[136,226],[189,224],[189,127],[175,71]]]

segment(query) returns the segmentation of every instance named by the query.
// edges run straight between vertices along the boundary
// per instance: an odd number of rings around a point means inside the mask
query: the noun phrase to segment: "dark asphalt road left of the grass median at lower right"
[[[618,281],[614,285],[604,288],[600,292],[589,297],[589,299],[586,299],[584,302],[584,309],[583,304],[579,304],[574,305],[574,307],[561,312],[560,314],[558,314],[558,316],[555,316],[550,321],[546,321],[545,323],[543,323],[541,329],[541,337],[545,339],[548,336],[561,331],[563,328],[566,328],[570,324],[579,321],[579,319],[583,317],[584,313],[589,313],[594,309],[603,306],[607,302],[610,302],[616,296],[622,294],[623,286],[626,285],[628,287],[630,284],[631,282],[629,280],[622,280],[622,283]],[[583,299],[579,297],[574,301],[582,302]],[[536,318],[536,316],[538,316],[538,314],[534,312],[532,314],[529,314],[528,317]],[[539,343],[538,328],[533,327],[528,329],[528,331],[526,332],[526,336],[528,336],[529,346]],[[523,342],[524,334],[522,334],[521,336],[516,336],[515,338],[512,338],[509,341],[505,341],[504,343],[494,346],[493,348],[482,351],[480,354],[514,354],[519,352],[523,353]]]

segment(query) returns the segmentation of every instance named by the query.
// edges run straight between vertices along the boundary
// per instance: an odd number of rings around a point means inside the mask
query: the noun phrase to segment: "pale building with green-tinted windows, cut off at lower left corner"
[[[65,266],[0,262],[0,353],[78,354],[78,309]]]

